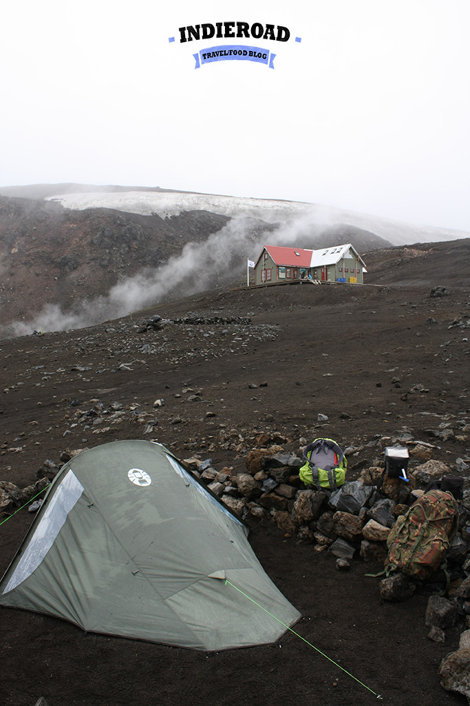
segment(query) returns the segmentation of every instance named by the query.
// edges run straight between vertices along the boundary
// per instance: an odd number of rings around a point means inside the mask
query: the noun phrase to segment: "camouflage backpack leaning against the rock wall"
[[[386,573],[393,570],[426,579],[446,568],[445,554],[457,530],[459,513],[451,493],[431,490],[400,515],[387,539]]]

